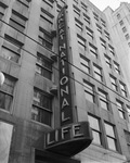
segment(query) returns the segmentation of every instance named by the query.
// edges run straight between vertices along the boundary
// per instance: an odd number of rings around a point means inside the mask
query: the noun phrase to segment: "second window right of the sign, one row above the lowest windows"
[[[99,97],[100,97],[100,103],[101,103],[101,108],[108,110],[108,95],[107,92],[99,89]]]

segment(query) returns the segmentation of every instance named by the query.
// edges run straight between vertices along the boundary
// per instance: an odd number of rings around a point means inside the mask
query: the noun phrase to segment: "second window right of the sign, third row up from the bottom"
[[[102,68],[96,66],[96,65],[93,65],[93,68],[94,68],[94,76],[100,82],[103,82],[103,76],[102,76]]]

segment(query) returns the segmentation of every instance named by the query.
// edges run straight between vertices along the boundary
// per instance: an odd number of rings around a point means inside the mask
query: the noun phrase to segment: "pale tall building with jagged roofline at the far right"
[[[120,7],[113,11],[110,8],[104,10],[112,32],[123,74],[130,89],[129,61],[130,61],[130,3],[121,2]]]

